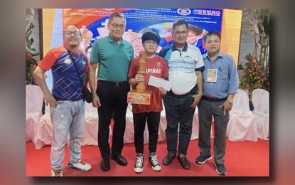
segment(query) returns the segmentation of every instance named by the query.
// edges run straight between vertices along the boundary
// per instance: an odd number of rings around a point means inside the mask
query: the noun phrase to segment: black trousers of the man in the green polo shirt
[[[99,81],[97,95],[100,97],[101,107],[98,108],[98,147],[102,159],[109,159],[109,124],[114,113],[114,127],[112,133],[112,155],[121,155],[123,137],[126,127],[127,93],[130,85],[127,83],[119,86],[112,83]]]

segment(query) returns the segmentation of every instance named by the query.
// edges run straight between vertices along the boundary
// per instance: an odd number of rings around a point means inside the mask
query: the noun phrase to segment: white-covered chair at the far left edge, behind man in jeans
[[[43,93],[38,85],[26,85],[26,142],[34,142],[34,129],[42,116]]]

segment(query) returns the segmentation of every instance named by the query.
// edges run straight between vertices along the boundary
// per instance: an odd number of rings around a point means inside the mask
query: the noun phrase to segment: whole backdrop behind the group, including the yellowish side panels
[[[106,23],[109,21],[109,14],[116,11],[127,17],[124,38],[132,42],[135,54],[143,49],[141,35],[144,31],[157,31],[161,35],[160,50],[173,41],[173,21],[184,18],[195,32],[200,33],[203,29],[203,35],[208,31],[220,31],[221,51],[232,55],[236,63],[238,61],[242,24],[242,10],[239,9],[42,9],[44,55],[51,48],[63,46],[63,26],[69,23],[77,24],[83,33],[81,50],[91,45],[95,39],[107,36],[109,32]],[[202,40],[202,34],[193,36],[190,32],[188,42],[194,43],[205,53]],[[48,88],[52,88],[51,72],[48,71],[46,75]]]

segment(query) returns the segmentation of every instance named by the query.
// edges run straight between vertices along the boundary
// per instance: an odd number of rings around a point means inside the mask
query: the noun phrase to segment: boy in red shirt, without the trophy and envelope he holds
[[[139,57],[132,60],[128,73],[128,83],[134,89],[137,83],[144,81],[146,90],[151,90],[150,105],[132,105],[134,122],[134,144],[136,150],[136,162],[134,171],[141,173],[144,170],[144,128],[148,125],[149,129],[149,163],[154,171],[160,171],[161,166],[156,158],[156,146],[158,142],[158,131],[161,117],[162,95],[166,95],[166,90],[162,87],[156,88],[148,85],[149,78],[153,75],[156,78],[168,78],[168,67],[166,60],[156,56],[155,52],[161,40],[159,34],[148,31],[141,37],[142,46],[146,52],[146,74],[136,74],[139,68]]]

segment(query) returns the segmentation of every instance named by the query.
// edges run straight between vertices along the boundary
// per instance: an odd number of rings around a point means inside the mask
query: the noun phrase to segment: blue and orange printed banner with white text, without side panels
[[[109,34],[107,23],[109,15],[121,12],[127,19],[123,38],[134,46],[137,56],[143,50],[141,35],[154,31],[161,36],[158,51],[173,42],[171,29],[173,21],[185,19],[189,24],[188,43],[205,53],[203,36],[208,31],[221,31],[221,9],[63,9],[63,26],[75,23],[82,31],[83,41],[80,48],[91,45],[95,39]]]

